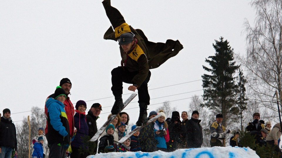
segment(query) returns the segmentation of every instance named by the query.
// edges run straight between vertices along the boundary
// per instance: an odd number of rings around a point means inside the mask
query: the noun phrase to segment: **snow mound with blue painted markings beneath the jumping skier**
[[[110,152],[89,155],[87,158],[259,158],[249,147],[202,147],[179,149],[174,152]]]

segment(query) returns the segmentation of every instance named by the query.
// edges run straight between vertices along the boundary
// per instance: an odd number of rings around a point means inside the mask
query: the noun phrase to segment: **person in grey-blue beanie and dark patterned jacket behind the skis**
[[[157,116],[157,112],[151,111],[148,120],[155,116]],[[155,139],[154,125],[155,121],[140,130],[139,141],[142,152],[154,152],[157,149],[159,142]]]

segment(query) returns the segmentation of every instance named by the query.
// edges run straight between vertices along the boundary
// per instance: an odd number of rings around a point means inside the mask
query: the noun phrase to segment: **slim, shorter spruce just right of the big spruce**
[[[247,98],[246,95],[246,88],[245,84],[247,83],[247,80],[244,78],[243,72],[241,69],[239,69],[239,76],[238,76],[238,87],[239,87],[239,94],[237,98],[237,105],[240,109],[240,119],[241,119],[241,130],[243,130],[243,112],[247,109]]]

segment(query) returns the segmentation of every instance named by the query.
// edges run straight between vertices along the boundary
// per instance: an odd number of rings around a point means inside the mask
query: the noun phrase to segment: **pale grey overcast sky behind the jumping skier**
[[[203,94],[201,75],[206,72],[202,65],[209,66],[204,60],[214,55],[212,43],[219,37],[227,39],[235,53],[245,54],[243,24],[245,18],[250,23],[255,18],[249,2],[111,2],[126,23],[142,29],[149,41],[179,40],[184,47],[177,56],[150,70],[148,112],[166,100],[180,113],[188,110],[190,98]],[[0,21],[1,113],[9,108],[13,121],[21,123],[24,116],[30,115],[23,111],[31,110],[32,106],[43,109],[46,97],[55,91],[60,80],[69,78],[73,104],[88,101],[86,111],[95,102],[102,105],[98,120],[101,126],[114,103],[110,72],[121,60],[118,43],[103,39],[111,24],[101,1],[2,0]],[[128,86],[124,84],[123,94],[131,93]],[[127,97],[129,94],[123,99]],[[131,123],[139,116],[137,101],[138,97],[125,110]]]

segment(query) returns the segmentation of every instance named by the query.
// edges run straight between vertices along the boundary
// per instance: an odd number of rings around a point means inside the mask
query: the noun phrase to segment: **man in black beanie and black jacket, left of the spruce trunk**
[[[198,148],[203,144],[203,132],[200,125],[199,112],[193,111],[192,117],[185,124],[187,148]]]

